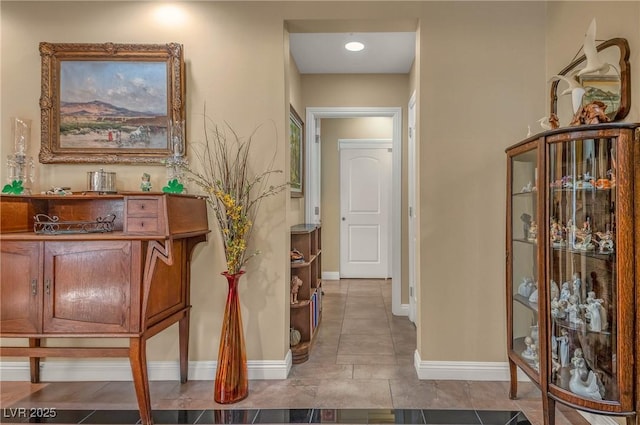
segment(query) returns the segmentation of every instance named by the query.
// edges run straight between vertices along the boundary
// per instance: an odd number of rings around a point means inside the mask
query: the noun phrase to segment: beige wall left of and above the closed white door
[[[393,119],[329,118],[322,128],[322,271],[340,271],[340,152],[339,139],[388,139]]]

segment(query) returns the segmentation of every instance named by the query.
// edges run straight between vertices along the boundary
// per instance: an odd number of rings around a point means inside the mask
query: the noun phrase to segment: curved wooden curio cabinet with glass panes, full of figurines
[[[550,130],[507,149],[510,397],[520,368],[555,403],[640,409],[640,124]]]

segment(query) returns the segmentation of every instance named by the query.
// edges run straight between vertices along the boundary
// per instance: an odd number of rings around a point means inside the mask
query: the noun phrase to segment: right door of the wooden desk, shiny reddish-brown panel
[[[129,331],[131,242],[48,242],[44,256],[45,332]]]

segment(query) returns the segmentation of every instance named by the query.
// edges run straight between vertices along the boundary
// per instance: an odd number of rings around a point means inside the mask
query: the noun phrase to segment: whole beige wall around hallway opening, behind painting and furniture
[[[423,360],[504,361],[504,149],[547,113],[550,70],[573,56],[592,16],[598,18],[599,38],[628,38],[632,69],[638,69],[638,2],[180,2],[186,19],[175,26],[155,20],[153,11],[161,5],[2,1],[2,158],[11,146],[10,116],[34,120],[36,143],[30,153],[37,157],[40,41],[175,41],[185,47],[190,142],[203,139],[205,103],[209,116],[228,121],[241,134],[269,123],[260,133],[263,143],[257,144],[264,151],[253,159],[266,157],[276,143],[276,166],[286,175],[286,125],[294,89],[287,81],[285,21],[357,20],[393,30],[396,23],[419,20],[418,350]],[[560,46],[566,47],[560,51]],[[636,121],[637,75],[629,118]],[[301,80],[306,102],[305,77]],[[396,94],[398,106],[406,108],[408,81],[404,84]],[[344,90],[346,95],[349,87]],[[380,105],[389,106],[378,90],[368,96],[381,96]],[[322,93],[315,99],[340,106]],[[277,137],[268,131],[273,127]],[[39,165],[36,186],[83,189],[86,172],[96,168]],[[152,174],[155,187],[164,178],[162,167],[108,168],[118,173],[121,190],[137,190],[142,172]],[[263,254],[248,267],[240,297],[248,358],[282,360],[288,350],[288,226],[294,207],[286,194],[263,207],[255,240]],[[217,276],[224,264],[214,236],[193,258],[194,361],[217,355],[226,288]],[[176,359],[177,351],[172,328],[150,341],[149,359]]]

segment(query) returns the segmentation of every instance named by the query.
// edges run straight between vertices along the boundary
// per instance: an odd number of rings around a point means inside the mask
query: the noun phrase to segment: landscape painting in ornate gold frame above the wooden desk
[[[40,43],[41,163],[162,163],[184,121],[182,45]]]

